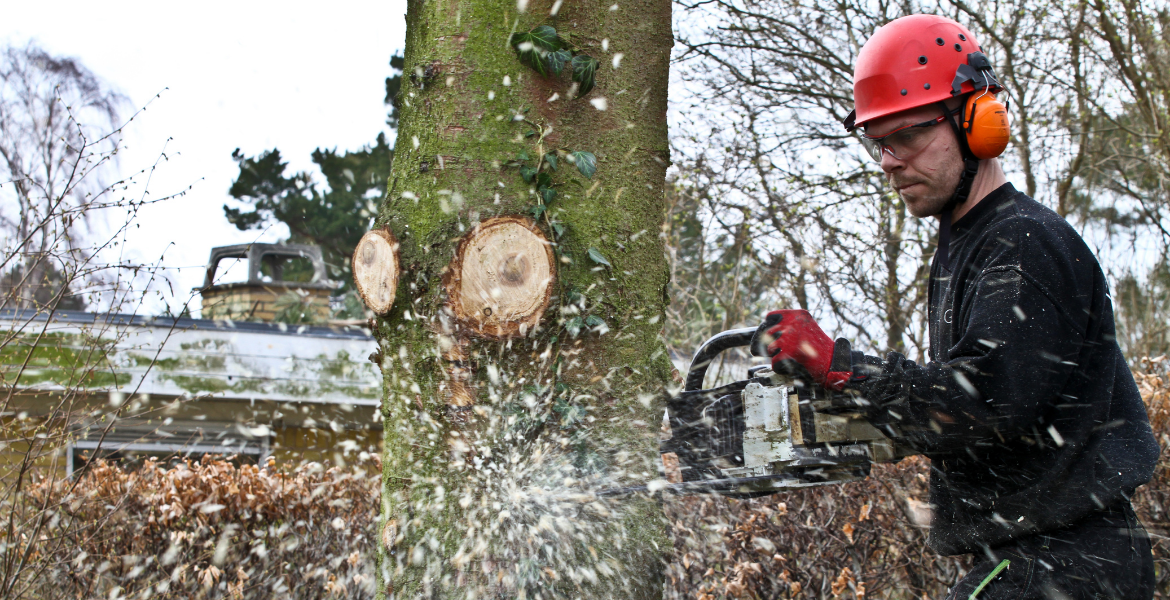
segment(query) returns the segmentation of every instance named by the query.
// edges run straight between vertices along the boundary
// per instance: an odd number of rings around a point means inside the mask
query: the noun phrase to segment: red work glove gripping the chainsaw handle
[[[846,339],[834,343],[807,310],[773,310],[751,340],[751,353],[772,357],[772,371],[792,372],[797,363],[812,380],[841,391],[853,378],[852,350]]]

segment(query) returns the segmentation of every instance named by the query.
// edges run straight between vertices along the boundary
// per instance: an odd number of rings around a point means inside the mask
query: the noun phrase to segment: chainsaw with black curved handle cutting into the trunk
[[[708,339],[691,359],[683,389],[667,398],[670,437],[659,450],[663,464],[677,461],[682,481],[598,496],[663,491],[751,498],[863,480],[870,464],[914,454],[858,415],[820,412],[841,392],[768,365],[749,368],[742,381],[703,389],[711,361],[725,350],[748,346],[755,333],[756,327],[744,327]]]

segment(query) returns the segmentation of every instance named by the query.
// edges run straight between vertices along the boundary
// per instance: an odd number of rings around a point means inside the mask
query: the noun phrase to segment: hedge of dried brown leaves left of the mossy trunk
[[[96,462],[50,506],[28,598],[373,598],[377,477],[222,460]]]

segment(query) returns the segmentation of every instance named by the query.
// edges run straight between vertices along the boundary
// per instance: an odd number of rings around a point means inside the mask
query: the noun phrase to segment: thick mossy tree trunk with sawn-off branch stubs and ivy
[[[658,501],[592,494],[660,477],[672,372],[670,2],[611,4],[408,5],[377,220],[401,264],[372,357],[387,598],[661,596]],[[521,62],[538,26],[599,61],[596,88]]]

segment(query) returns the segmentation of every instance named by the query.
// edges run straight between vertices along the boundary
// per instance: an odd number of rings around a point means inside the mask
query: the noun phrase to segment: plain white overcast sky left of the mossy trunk
[[[386,129],[384,81],[406,30],[405,0],[5,5],[0,43],[33,41],[78,58],[132,106],[161,92],[126,132],[118,168],[149,167],[165,147],[170,160],[151,194],[194,186],[145,208],[126,244],[142,261],[165,251],[180,304],[202,283],[212,247],[285,234],[245,233],[225,220],[232,151],[278,147],[292,171],[312,168],[318,146],[372,143]]]

